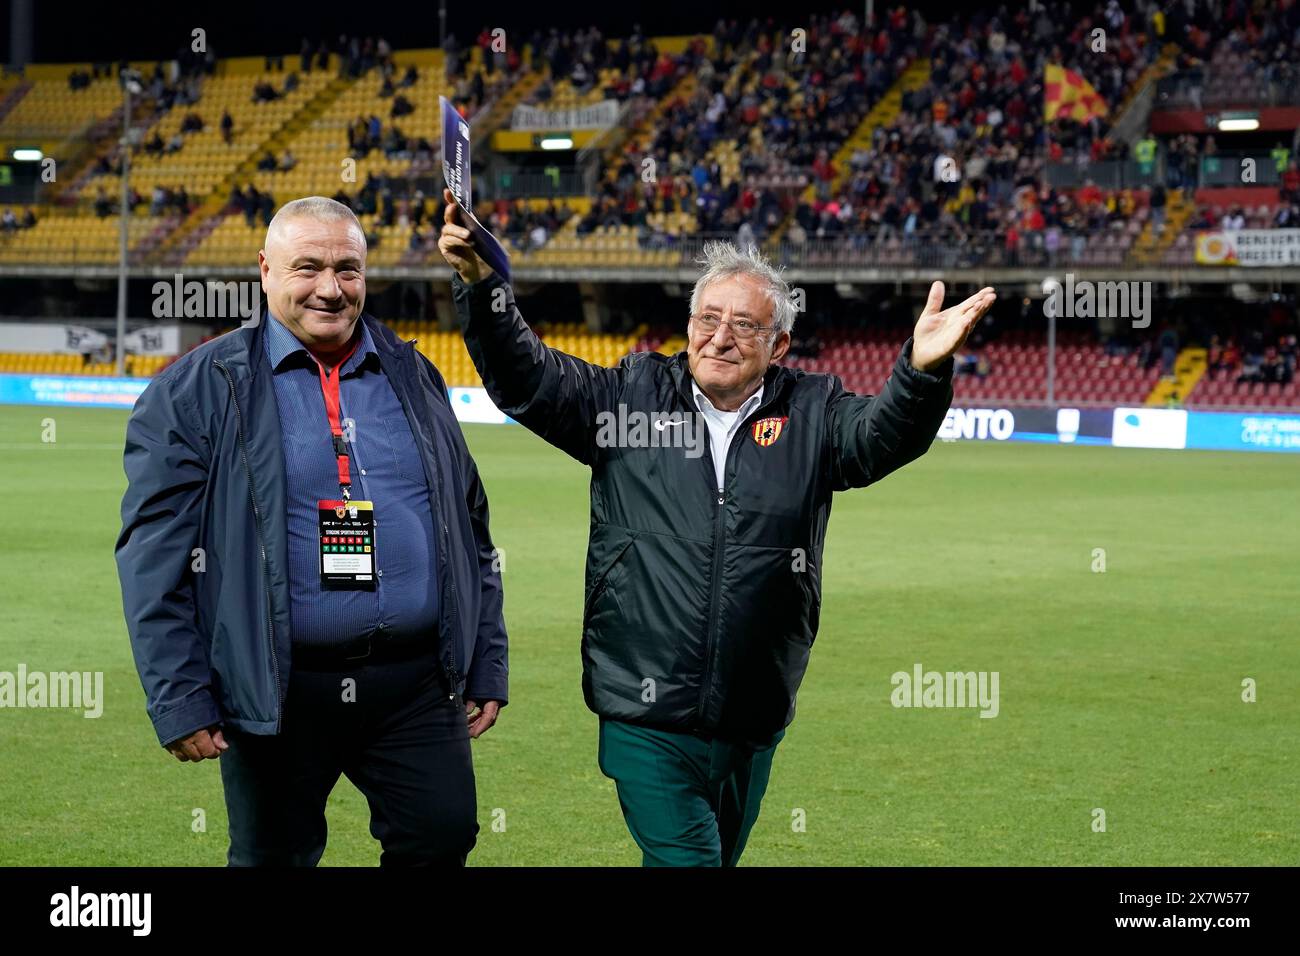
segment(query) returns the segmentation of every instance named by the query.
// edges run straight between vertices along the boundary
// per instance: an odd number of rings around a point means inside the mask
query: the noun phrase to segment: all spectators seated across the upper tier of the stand
[[[647,246],[670,245],[680,232],[729,234],[742,245],[780,235],[790,247],[819,241],[836,248],[942,248],[954,261],[1048,265],[1080,261],[1093,254],[1098,235],[1108,235],[1115,245],[1105,246],[1102,255],[1112,258],[1092,261],[1109,264],[1119,261],[1138,234],[1135,225],[1148,216],[1157,232],[1164,229],[1170,194],[1191,193],[1197,164],[1214,156],[1218,144],[1210,135],[1167,138],[1160,143],[1162,176],[1148,187],[1100,187],[1088,168],[1127,159],[1128,148],[1110,138],[1105,118],[1044,121],[1045,66],[1058,64],[1084,77],[1114,118],[1169,44],[1183,69],[1202,66],[1227,48],[1271,70],[1270,77],[1280,75],[1279,64],[1294,53],[1300,26],[1300,4],[1283,7],[1274,22],[1243,0],[1048,0],[956,10],[936,21],[898,5],[870,25],[852,10],[789,23],[722,20],[711,46],[690,43],[676,55],[660,52],[640,27],[612,43],[597,27],[536,31],[524,43],[504,42],[499,31],[484,27],[473,40],[482,52],[481,73],[467,69],[469,51],[454,35],[443,48],[465,114],[525,68],[521,49],[528,49],[526,66],[547,75],[533,96],[538,104],[551,101],[560,81],[580,95],[599,86],[604,98],[653,103],[685,77],[694,78],[689,94],[660,103],[647,133],[629,137],[604,163],[590,211],[576,220],[578,235],[630,226]],[[1096,48],[1098,31],[1104,51]],[[385,108],[348,125],[350,155],[380,151],[417,168],[430,163],[430,137],[408,134],[398,124],[415,111],[410,91],[420,70],[399,68],[384,38],[341,35],[332,44],[304,39],[299,72],[328,69],[332,53],[344,75],[382,75],[378,99]],[[904,92],[897,114],[878,126],[870,142],[837,159],[867,111],[915,57],[928,60],[924,82]],[[283,70],[283,60],[268,57],[266,69]],[[170,98],[168,107],[190,103],[209,65],[209,56],[190,56],[173,68],[174,75],[160,65],[150,92]],[[296,77],[286,75],[285,91]],[[281,95],[268,79],[254,99]],[[170,139],[155,133],[142,148],[174,152],[183,148],[187,133],[203,127],[203,117],[191,111]],[[230,142],[229,113],[220,127]],[[287,151],[278,157],[266,152],[257,168],[286,170],[295,164]],[[1300,170],[1288,153],[1283,165],[1283,202],[1265,209],[1262,220],[1258,208],[1205,207],[1191,226],[1300,226]],[[1079,173],[1069,185],[1053,185],[1061,179],[1046,174],[1049,166]],[[113,169],[105,157],[96,172]],[[244,196],[247,190],[235,193]],[[385,194],[391,198],[385,200]],[[390,183],[341,195],[354,208],[370,208],[393,222],[413,202],[415,187]],[[255,221],[261,199],[238,208]],[[406,215],[412,222],[425,220]],[[489,226],[516,247],[536,247],[573,217],[563,204],[534,209],[502,202]]]

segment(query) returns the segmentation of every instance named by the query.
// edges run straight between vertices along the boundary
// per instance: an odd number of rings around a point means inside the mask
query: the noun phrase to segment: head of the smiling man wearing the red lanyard
[[[325,196],[285,203],[257,264],[270,313],[332,364],[365,306],[365,233],[356,216]]]

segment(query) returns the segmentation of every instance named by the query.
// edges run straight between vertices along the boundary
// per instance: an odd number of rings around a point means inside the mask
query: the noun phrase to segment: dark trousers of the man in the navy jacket
[[[230,866],[315,866],[339,774],[370,805],[381,866],[459,866],[474,845],[465,705],[448,697],[436,654],[342,671],[294,667],[281,732],[228,727],[225,736]]]

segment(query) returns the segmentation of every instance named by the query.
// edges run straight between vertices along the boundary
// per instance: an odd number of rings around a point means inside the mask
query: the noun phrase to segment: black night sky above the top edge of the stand
[[[915,5],[915,4],[911,4]],[[202,26],[217,56],[296,52],[304,35],[334,38],[339,33],[359,36],[384,35],[396,49],[438,44],[438,3],[365,3],[365,0],[298,0],[295,3],[152,3],[107,4],[83,0],[35,0],[35,49],[38,62],[170,59],[190,31]],[[861,16],[861,0],[848,7]],[[878,3],[878,12],[884,9]],[[800,12],[844,9],[832,0],[792,5],[788,0],[736,3],[448,3],[447,29],[459,38],[477,35],[482,26],[500,26],[507,36],[517,30],[526,36],[534,27],[576,29],[595,23],[606,35],[627,34],[640,22],[647,34],[679,34],[708,30],[719,16],[748,20],[754,16],[793,18]],[[9,55],[9,0],[0,0],[0,56]],[[359,16],[364,13],[364,16]]]

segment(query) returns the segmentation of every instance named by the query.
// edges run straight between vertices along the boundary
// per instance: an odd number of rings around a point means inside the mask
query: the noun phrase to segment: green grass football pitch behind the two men
[[[0,407],[0,670],[101,670],[107,697],[94,721],[0,710],[0,865],[225,862],[218,767],[159,748],[131,663],[125,420]],[[465,432],[512,678],[473,745],[469,862],[636,865],[578,683],[586,471],[521,428]],[[1269,454],[939,444],[838,496],[820,635],[742,862],[1296,864],[1297,514],[1300,458]],[[1000,714],[893,708],[890,675],[918,662],[998,671]],[[346,780],[329,822],[325,865],[377,861]]]

